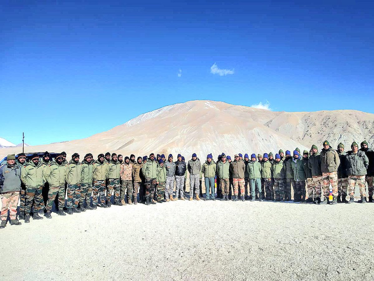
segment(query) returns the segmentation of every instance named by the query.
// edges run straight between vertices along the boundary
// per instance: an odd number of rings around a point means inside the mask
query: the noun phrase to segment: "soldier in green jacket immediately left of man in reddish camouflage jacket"
[[[122,206],[120,200],[120,170],[121,163],[118,161],[116,153],[112,153],[111,160],[108,163],[108,187],[107,187],[107,205],[110,207],[110,199],[114,191],[114,204]]]

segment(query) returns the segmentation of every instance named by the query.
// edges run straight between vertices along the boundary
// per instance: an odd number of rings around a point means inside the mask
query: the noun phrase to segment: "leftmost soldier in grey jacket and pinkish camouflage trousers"
[[[1,224],[0,229],[6,227],[6,221],[9,218],[10,225],[20,225],[17,220],[17,205],[19,199],[19,190],[21,189],[21,167],[16,164],[14,154],[9,154],[6,158],[6,164],[0,167],[0,197],[1,197]]]

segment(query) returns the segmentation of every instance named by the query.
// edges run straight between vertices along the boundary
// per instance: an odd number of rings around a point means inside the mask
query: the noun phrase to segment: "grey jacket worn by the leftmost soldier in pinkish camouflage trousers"
[[[19,191],[21,189],[21,166],[9,167],[4,164],[0,168],[0,193]]]

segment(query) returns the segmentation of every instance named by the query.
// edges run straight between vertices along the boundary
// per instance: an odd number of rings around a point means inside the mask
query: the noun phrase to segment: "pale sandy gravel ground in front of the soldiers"
[[[0,230],[1,280],[374,280],[374,204],[181,201]]]

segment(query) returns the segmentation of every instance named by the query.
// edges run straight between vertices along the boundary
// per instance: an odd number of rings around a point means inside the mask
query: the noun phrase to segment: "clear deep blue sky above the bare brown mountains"
[[[85,138],[194,99],[374,112],[369,1],[5,2],[0,137],[13,143]]]

